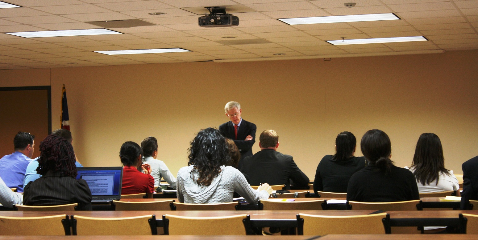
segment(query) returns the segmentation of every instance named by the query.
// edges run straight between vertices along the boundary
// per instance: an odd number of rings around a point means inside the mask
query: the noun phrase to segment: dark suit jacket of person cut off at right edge
[[[460,209],[465,210],[467,200],[478,200],[478,156],[461,165],[463,170],[463,191]]]

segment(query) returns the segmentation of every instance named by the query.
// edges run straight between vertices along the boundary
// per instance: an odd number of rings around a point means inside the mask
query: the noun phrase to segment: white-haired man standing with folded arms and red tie
[[[256,142],[256,124],[241,118],[242,109],[239,102],[230,101],[224,107],[226,116],[230,121],[219,126],[221,134],[234,141],[242,155],[239,160],[238,169],[242,166],[242,160],[252,155],[252,145]]]

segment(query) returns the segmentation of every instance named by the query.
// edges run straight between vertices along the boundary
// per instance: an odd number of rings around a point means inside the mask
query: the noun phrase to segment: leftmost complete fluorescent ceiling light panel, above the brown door
[[[79,30],[56,30],[56,31],[33,31],[33,32],[5,32],[24,38],[44,38],[44,37],[65,37],[65,36],[86,36],[86,35],[104,35],[104,34],[122,34],[121,32],[108,29],[79,29]]]

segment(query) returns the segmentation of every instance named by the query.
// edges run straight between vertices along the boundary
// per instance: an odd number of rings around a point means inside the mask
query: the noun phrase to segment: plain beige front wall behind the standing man
[[[24,71],[28,78],[17,77]],[[37,72],[41,78],[45,70],[3,70],[0,87],[12,81],[43,85],[35,80]],[[262,130],[277,130],[279,151],[293,155],[311,180],[318,161],[334,153],[340,131],[351,131],[360,141],[373,128],[389,134],[392,160],[400,167],[410,166],[421,133],[436,133],[446,167],[461,173],[461,163],[478,155],[477,72],[478,50],[56,68],[51,69],[52,128],[60,126],[65,84],[73,146],[85,166],[120,166],[124,141],[155,136],[158,159],[175,174],[187,163],[194,134],[227,121],[223,107],[237,100],[243,118],[257,125],[257,139]],[[258,150],[256,142],[253,151]]]

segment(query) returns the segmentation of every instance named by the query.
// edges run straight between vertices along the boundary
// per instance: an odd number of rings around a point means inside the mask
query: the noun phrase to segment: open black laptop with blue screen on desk
[[[122,167],[85,167],[76,170],[76,179],[87,181],[93,196],[92,203],[108,203],[121,198]]]

